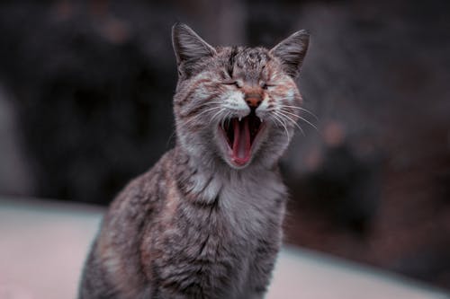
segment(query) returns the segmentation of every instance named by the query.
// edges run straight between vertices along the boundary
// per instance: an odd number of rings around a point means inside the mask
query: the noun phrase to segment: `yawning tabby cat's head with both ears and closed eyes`
[[[294,82],[309,43],[297,31],[272,49],[211,47],[176,23],[174,98],[178,143],[206,163],[270,167],[284,153],[299,119]]]

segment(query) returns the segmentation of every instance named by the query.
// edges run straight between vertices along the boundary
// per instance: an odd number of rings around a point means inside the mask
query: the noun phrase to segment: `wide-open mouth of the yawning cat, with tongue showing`
[[[255,111],[242,119],[230,119],[220,128],[229,145],[231,162],[238,166],[247,164],[251,158],[253,145],[263,128],[263,123]]]

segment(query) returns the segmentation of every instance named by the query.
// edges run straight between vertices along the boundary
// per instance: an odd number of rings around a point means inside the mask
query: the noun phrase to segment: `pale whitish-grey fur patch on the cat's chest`
[[[202,223],[206,231],[223,246],[242,245],[244,251],[256,249],[258,240],[269,240],[279,233],[284,216],[284,185],[274,181],[239,180],[221,186],[213,222]]]

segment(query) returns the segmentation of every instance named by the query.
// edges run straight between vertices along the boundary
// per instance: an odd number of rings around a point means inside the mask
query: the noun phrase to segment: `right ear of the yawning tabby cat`
[[[299,75],[309,43],[310,33],[305,30],[297,31],[272,48],[270,53],[281,60],[284,72],[295,78]]]

